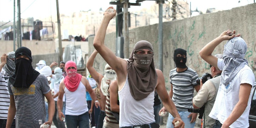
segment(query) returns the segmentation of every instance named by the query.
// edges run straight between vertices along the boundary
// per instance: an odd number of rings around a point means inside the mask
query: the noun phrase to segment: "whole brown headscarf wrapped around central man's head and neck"
[[[138,50],[148,49],[152,54],[136,54]],[[131,96],[142,100],[150,95],[157,84],[157,74],[153,58],[153,46],[148,41],[137,42],[127,62],[127,78]]]

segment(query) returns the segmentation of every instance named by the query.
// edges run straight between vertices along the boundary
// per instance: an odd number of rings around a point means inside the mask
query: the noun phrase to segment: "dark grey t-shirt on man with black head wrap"
[[[39,128],[45,122],[44,94],[51,89],[47,78],[40,74],[29,88],[16,88],[8,82],[9,94],[14,95],[16,128]]]

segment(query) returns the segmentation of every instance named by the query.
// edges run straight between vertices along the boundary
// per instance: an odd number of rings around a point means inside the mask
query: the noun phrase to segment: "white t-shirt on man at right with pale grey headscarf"
[[[223,59],[218,59],[218,68],[222,70],[224,66],[225,64]],[[245,65],[237,73],[234,79],[229,82],[229,85],[225,86],[221,83],[219,85],[218,94],[209,116],[219,120],[219,122],[223,124],[239,101],[240,84],[247,83],[253,87],[254,81],[255,76],[253,71],[247,65]],[[229,126],[230,128],[249,127],[248,116],[251,108],[252,93],[253,88],[251,89],[250,97],[245,111],[233,124]]]

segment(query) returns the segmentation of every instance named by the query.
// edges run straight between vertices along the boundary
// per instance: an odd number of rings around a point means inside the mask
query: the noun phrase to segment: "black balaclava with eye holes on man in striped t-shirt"
[[[176,57],[178,54],[181,54],[181,57]],[[183,58],[182,55],[185,55],[186,58]],[[177,68],[187,68],[187,51],[182,48],[177,48],[174,50],[173,60]],[[182,62],[181,62],[182,60]]]

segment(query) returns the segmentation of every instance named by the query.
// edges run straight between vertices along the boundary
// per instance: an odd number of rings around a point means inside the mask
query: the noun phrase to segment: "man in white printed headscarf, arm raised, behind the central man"
[[[91,74],[91,76],[94,78],[94,80],[97,82],[99,88],[100,88],[100,97],[101,97],[101,111],[98,118],[97,128],[103,127],[103,121],[105,118],[105,105],[106,105],[106,95],[108,92],[109,83],[116,78],[116,72],[108,65],[105,65],[104,68],[104,75],[98,73],[95,68],[93,67],[94,59],[97,55],[97,51],[94,50],[94,52],[89,57],[86,67]]]

